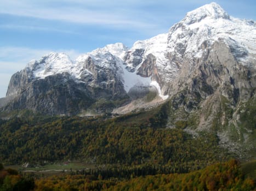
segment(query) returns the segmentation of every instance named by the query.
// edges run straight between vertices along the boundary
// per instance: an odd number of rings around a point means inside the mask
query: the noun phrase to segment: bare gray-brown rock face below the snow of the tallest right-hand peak
[[[205,47],[205,50],[200,59],[184,59],[184,63],[190,63],[194,68],[189,73],[186,66],[181,68],[179,76],[167,88],[171,96],[186,89],[183,97],[191,99],[187,102],[195,106],[191,109],[197,109],[202,100],[216,93],[224,96],[234,106],[238,101],[246,102],[255,96],[253,68],[239,63],[231,48],[221,40],[211,47]]]

